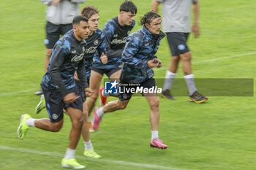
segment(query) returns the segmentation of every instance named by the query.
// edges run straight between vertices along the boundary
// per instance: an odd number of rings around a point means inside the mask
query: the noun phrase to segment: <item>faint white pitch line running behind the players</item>
[[[242,56],[245,56],[245,55],[253,55],[253,54],[256,54],[256,52],[225,56],[225,57],[220,57],[220,58],[214,58],[214,59],[211,59],[211,60],[197,61],[197,62],[192,62],[192,64],[208,63],[208,62],[212,62],[212,61],[219,61],[219,60],[223,60],[223,59],[227,59],[227,58],[237,58],[237,57],[242,57]],[[154,72],[158,72],[158,71],[165,70],[165,69],[167,69],[167,68],[162,67],[160,69],[154,69]],[[10,96],[12,94],[26,93],[26,92],[30,92],[32,90],[36,90],[36,89],[31,88],[31,89],[28,89],[28,90],[20,90],[20,91],[15,91],[15,92],[12,92],[12,93],[0,93],[0,96]]]

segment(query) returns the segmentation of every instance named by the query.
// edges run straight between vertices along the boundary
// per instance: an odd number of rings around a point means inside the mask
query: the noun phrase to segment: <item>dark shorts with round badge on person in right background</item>
[[[187,46],[189,33],[169,32],[166,35],[172,56],[189,52],[189,47]]]

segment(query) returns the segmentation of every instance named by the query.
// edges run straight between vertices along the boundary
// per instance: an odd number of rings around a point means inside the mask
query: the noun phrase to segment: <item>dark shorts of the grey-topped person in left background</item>
[[[72,23],[55,25],[47,21],[45,45],[48,49],[52,49],[55,43],[59,40],[59,36],[66,34],[72,29]]]

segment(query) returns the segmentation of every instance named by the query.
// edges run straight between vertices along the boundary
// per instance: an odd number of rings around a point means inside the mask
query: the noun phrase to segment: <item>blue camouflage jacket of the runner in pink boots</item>
[[[153,69],[148,67],[148,61],[157,58],[155,55],[160,40],[165,34],[152,34],[146,26],[128,36],[127,44],[122,54],[123,66],[120,80],[122,82],[141,83],[154,76]]]

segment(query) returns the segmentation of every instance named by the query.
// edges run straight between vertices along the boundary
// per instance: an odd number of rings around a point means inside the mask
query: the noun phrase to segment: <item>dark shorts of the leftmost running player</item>
[[[44,96],[45,96],[45,105],[46,105],[46,109],[50,117],[51,123],[56,123],[62,120],[63,109],[66,109],[67,107],[72,107],[72,108],[80,109],[83,111],[83,101],[77,87],[73,88],[70,92],[76,93],[78,96],[80,96],[80,98],[76,99],[71,104],[64,103],[63,97],[61,96],[60,92],[49,91],[45,89],[42,89],[42,92],[44,93]]]

